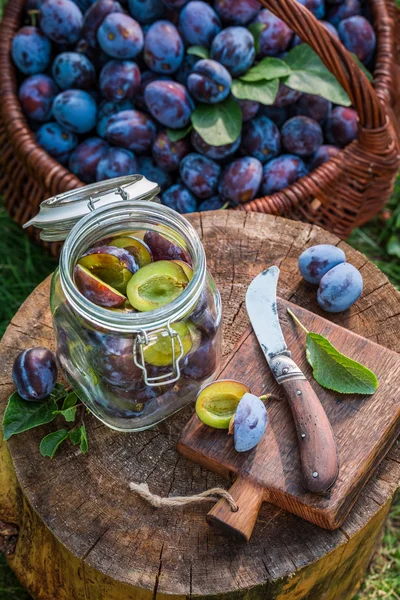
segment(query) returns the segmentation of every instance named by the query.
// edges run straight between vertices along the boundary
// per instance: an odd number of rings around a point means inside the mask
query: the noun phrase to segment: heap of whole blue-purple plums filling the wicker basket
[[[365,0],[298,1],[371,68]],[[141,173],[178,212],[216,209],[287,187],[357,135],[352,108],[281,84],[273,105],[237,101],[235,142],[212,146],[194,130],[171,141],[166,129],[228,98],[232,77],[302,43],[257,0],[27,0],[27,10],[38,26],[12,44],[23,111],[38,144],[86,183]]]

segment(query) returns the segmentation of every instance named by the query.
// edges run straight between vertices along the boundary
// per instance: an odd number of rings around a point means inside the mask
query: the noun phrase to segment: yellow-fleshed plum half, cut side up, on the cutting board
[[[197,416],[210,427],[228,429],[240,400],[249,392],[247,385],[233,379],[214,381],[197,396]]]

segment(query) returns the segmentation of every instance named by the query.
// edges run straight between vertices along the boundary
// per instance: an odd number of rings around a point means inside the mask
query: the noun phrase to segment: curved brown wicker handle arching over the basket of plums
[[[311,11],[297,0],[260,2],[318,54],[349,95],[362,128],[378,129],[386,125],[385,110],[366,75],[342,42],[328,31]]]

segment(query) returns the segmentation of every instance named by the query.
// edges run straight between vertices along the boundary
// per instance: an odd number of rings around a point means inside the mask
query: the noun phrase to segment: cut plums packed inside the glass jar
[[[108,311],[132,314],[161,309],[173,302],[189,285],[193,273],[191,258],[183,247],[156,231],[128,231],[89,248],[75,266],[74,281],[91,303]],[[141,359],[139,350],[135,351],[134,334],[118,335],[94,328],[71,313],[68,303],[62,303],[53,317],[61,365],[70,375],[75,366],[91,377],[96,385],[96,402],[113,417],[139,416],[145,407],[147,411],[155,410],[167,392],[176,394],[173,384],[145,384],[137,364]],[[186,316],[171,323],[174,339],[165,328],[148,334],[143,346],[147,377],[165,376],[166,381],[174,368],[174,355],[181,354],[179,389],[183,394],[187,387],[199,388],[218,366],[219,320],[206,282],[195,306],[188,307]]]

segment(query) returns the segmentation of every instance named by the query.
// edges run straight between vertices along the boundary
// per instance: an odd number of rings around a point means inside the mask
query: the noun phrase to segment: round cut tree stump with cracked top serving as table
[[[302,280],[297,258],[306,246],[322,242],[340,245],[365,282],[357,304],[331,318],[400,350],[400,295],[365,256],[337,237],[257,213],[210,212],[191,215],[190,221],[222,294],[225,355],[248,327],[248,283],[271,264],[281,268],[280,296],[319,312],[316,290]],[[54,346],[48,299],[46,280],[15,315],[0,345],[2,411],[14,389],[17,353]],[[118,433],[89,418],[89,453],[66,445],[51,462],[39,453],[51,425],[2,444],[0,541],[33,597],[350,600],[380,541],[399,480],[400,445],[383,460],[340,529],[320,529],[264,504],[250,543],[241,545],[208,527],[210,506],[154,509],[128,489],[130,481],[147,482],[164,496],[228,487],[175,450],[192,412],[189,406],[138,434]]]

